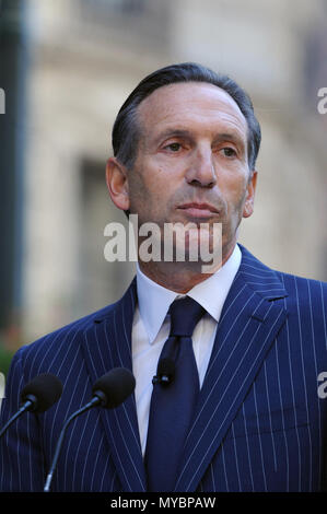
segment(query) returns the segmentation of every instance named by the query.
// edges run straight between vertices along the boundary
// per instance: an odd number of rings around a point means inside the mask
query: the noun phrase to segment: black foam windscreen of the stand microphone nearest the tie
[[[101,407],[114,409],[131,395],[135,387],[136,379],[129,370],[114,367],[95,382],[92,393],[101,399]]]

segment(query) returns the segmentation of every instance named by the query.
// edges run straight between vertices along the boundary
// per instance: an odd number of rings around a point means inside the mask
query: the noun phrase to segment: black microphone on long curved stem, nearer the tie
[[[114,367],[105,375],[101,376],[92,387],[92,398],[89,404],[73,412],[65,422],[55,449],[50,470],[47,475],[44,492],[50,491],[52,476],[59,459],[62,442],[69,424],[80,414],[93,407],[104,407],[114,409],[125,401],[133,392],[136,379],[132,373],[125,367]]]

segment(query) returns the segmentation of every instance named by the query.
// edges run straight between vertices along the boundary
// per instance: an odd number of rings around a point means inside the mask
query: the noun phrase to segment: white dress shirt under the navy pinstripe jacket
[[[238,270],[241,258],[241,249],[235,245],[224,266],[187,293],[207,312],[192,334],[200,387],[209,364],[221,311]],[[132,366],[136,377],[135,394],[141,447],[144,454],[152,378],[156,373],[157,361],[170,334],[171,322],[167,312],[174,300],[184,295],[159,285],[142,273],[139,266],[137,266],[137,291],[138,306],[132,325]]]

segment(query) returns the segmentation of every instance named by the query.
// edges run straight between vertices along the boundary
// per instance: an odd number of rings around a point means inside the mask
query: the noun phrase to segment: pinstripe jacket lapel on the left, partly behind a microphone
[[[113,367],[132,371],[131,329],[137,302],[136,279],[122,299],[84,332],[83,350],[92,382]],[[135,395],[116,409],[101,409],[112,456],[125,491],[145,491]]]

